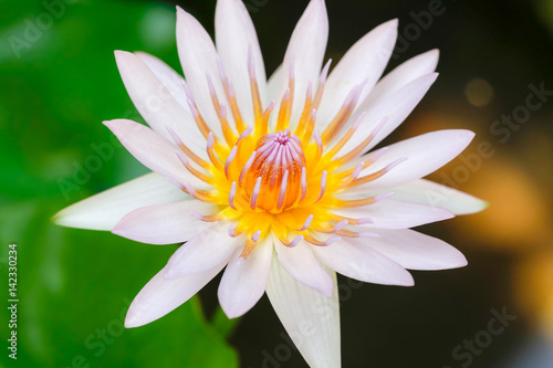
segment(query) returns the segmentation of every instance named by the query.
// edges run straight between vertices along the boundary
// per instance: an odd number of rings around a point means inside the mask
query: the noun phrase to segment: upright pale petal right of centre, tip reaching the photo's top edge
[[[311,0],[295,25],[290,43],[288,44],[280,74],[279,92],[276,94],[275,111],[279,111],[280,99],[289,85],[290,65],[293,60],[295,92],[290,119],[292,127],[301,116],[310,81],[313,83],[313,86],[316,86],[319,82],[327,39],[328,18],[324,1]],[[273,122],[276,115],[273,114]]]

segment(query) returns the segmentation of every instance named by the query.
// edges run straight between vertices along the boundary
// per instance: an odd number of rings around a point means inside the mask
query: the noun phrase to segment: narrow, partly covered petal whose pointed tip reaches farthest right
[[[442,183],[457,185],[452,180],[444,180]],[[418,179],[401,186],[371,191],[366,191],[363,188],[352,188],[344,197],[374,197],[385,192],[394,192],[394,200],[397,201],[441,207],[456,215],[480,212],[488,207],[488,202],[481,199],[426,179]]]

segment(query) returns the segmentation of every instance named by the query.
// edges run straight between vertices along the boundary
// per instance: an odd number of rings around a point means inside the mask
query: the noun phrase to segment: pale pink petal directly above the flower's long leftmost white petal
[[[178,147],[148,127],[126,119],[104,122],[125,148],[138,161],[163,177],[180,183],[189,182],[196,189],[210,186],[191,175],[175,155]]]

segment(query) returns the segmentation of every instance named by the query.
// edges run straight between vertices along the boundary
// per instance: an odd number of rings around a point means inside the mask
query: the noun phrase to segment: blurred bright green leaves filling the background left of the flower
[[[146,51],[178,70],[174,9],[107,0],[2,0],[0,9],[1,295],[6,303],[8,244],[15,242],[17,366],[237,367],[228,326],[209,323],[197,298],[145,327],[123,328],[128,304],[176,245],[50,222],[58,210],[146,172],[101,122],[140,119],[113,50]],[[0,317],[0,361],[11,366],[6,307]]]

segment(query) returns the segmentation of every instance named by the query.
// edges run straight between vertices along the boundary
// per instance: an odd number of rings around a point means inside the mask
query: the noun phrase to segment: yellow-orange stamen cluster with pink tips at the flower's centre
[[[219,62],[219,77],[228,107],[220,102],[210,75],[207,75],[207,84],[215,111],[219,116],[222,137],[213,135],[185,83],[188,105],[198,129],[207,140],[206,150],[209,160],[191,151],[175,132],[168,128],[179,147],[176,155],[182,165],[190,174],[213,189],[196,190],[188,182],[175,183],[196,199],[218,204],[220,209],[217,213],[192,212],[192,214],[204,221],[230,221],[232,223],[229,228],[230,236],[246,233],[247,241],[242,251],[244,259],[269,232],[273,232],[286,246],[295,246],[302,240],[314,245],[328,245],[341,236],[374,236],[373,233],[356,232],[347,228],[371,223],[371,219],[352,219],[332,213],[333,208],[368,206],[387,198],[390,193],[357,200],[342,200],[333,194],[375,180],[405,160],[396,160],[378,171],[359,177],[364,169],[384,154],[385,149],[380,149],[355,167],[338,170],[363,155],[386,123],[384,119],[357,147],[341,157],[335,157],[364,117],[364,114],[361,114],[342,138],[337,139],[338,133],[354,112],[365,84],[362,83],[351,91],[340,112],[324,132],[319,134],[314,129],[316,112],[323,96],[330,62],[321,73],[314,95],[312,83],[309,84],[299,122],[290,122],[294,98],[292,61],[289,86],[281,98],[275,127],[272,129],[274,133],[270,133],[270,118],[275,103],[272,101],[263,109],[251,50],[248,59],[254,115],[252,126],[242,119],[232,83]],[[227,115],[228,109],[231,116]],[[230,117],[233,124],[229,122]],[[293,132],[290,128],[291,123],[295,125]]]

